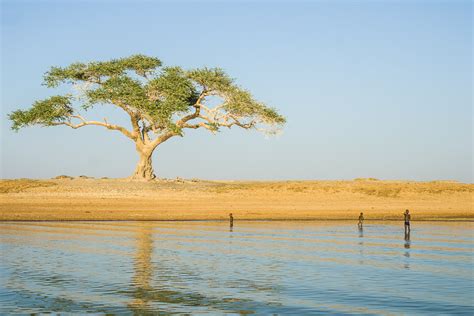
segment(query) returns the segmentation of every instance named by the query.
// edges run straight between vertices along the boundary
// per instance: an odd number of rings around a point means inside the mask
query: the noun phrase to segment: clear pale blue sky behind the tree
[[[189,131],[161,177],[472,182],[470,1],[2,1],[1,175],[128,176],[134,145],[100,127],[10,131],[7,114],[65,92],[50,66],[143,53],[222,67],[287,116],[284,133]],[[125,122],[110,107],[87,113]]]

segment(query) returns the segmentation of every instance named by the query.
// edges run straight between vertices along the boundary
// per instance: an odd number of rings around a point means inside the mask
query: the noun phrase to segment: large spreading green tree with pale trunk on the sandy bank
[[[285,123],[275,109],[254,100],[219,68],[162,67],[157,58],[133,55],[52,67],[44,75],[44,85],[61,84],[70,84],[80,93],[55,95],[34,102],[28,110],[10,113],[12,129],[95,125],[119,131],[135,143],[140,157],[133,179],[153,179],[153,151],[171,137],[183,136],[185,129],[216,133],[222,127],[237,126],[275,132]],[[98,104],[125,111],[131,125],[119,126],[105,118],[89,120],[81,114]]]

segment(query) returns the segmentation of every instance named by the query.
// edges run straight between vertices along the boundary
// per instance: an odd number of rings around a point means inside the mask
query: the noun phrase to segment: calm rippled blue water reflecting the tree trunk
[[[474,223],[0,223],[0,314],[474,314]]]

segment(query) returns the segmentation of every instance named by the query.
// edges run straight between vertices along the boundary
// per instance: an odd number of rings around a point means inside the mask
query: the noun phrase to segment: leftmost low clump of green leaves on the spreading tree
[[[13,122],[12,129],[18,131],[22,127],[40,124],[52,125],[64,121],[73,114],[70,96],[53,96],[42,101],[36,101],[27,111],[16,110],[8,115]]]

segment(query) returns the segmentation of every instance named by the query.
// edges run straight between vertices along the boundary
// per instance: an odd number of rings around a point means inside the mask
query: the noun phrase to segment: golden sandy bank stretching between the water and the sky
[[[0,180],[0,220],[474,220],[453,181]]]

